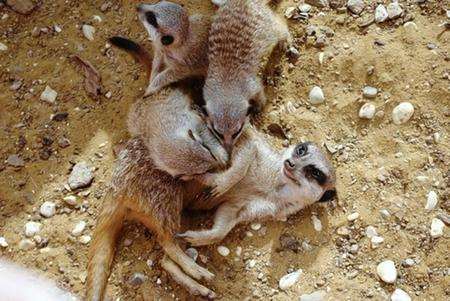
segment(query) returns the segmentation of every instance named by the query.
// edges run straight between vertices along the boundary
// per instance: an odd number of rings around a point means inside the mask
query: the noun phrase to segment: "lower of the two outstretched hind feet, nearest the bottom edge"
[[[185,287],[192,295],[200,295],[208,299],[216,297],[212,290],[186,275],[167,255],[164,255],[161,260],[161,267],[172,276],[175,282]]]

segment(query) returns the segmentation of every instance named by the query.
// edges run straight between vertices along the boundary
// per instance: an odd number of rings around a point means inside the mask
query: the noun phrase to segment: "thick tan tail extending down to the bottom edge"
[[[117,238],[125,219],[126,208],[120,198],[109,191],[98,217],[89,250],[87,301],[104,299]]]

